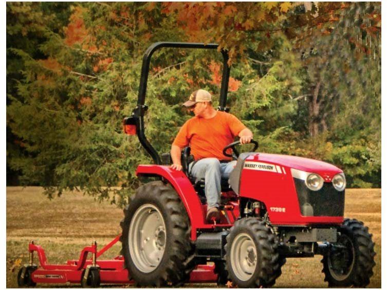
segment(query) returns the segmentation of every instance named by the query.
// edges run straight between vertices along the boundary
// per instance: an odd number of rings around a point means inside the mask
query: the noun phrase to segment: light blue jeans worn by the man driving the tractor
[[[229,178],[237,161],[221,163],[217,158],[204,158],[191,162],[189,172],[196,180],[205,179],[205,195],[208,209],[219,207],[221,199],[221,178]]]

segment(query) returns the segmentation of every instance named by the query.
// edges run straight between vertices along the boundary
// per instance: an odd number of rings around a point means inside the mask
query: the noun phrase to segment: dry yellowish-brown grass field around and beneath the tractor
[[[345,216],[362,220],[376,243],[376,266],[368,287],[381,287],[381,190],[349,189],[346,191]],[[122,211],[108,202],[99,203],[81,193],[67,192],[49,201],[38,187],[7,188],[7,288],[17,287],[19,265],[28,262],[28,242],[34,240],[46,251],[49,263],[65,263],[78,259],[81,249],[94,240],[100,246],[120,233]],[[102,259],[113,258],[120,252],[115,245]],[[327,287],[321,273],[321,257],[287,259],[282,276],[275,287]],[[54,285],[67,287],[67,285]],[[77,286],[77,285],[73,285]],[[215,284],[187,285],[216,287]],[[38,287],[53,285],[38,284]],[[79,285],[78,285],[79,287]],[[120,287],[120,286],[118,286]]]

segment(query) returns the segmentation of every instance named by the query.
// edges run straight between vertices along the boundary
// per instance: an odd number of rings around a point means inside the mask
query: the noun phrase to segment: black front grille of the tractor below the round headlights
[[[324,182],[319,191],[309,190],[304,180],[294,182],[302,216],[343,216],[345,191],[337,191],[331,182]]]

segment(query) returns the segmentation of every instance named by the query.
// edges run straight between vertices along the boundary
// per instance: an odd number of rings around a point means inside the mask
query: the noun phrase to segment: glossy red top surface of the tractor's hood
[[[331,179],[332,176],[336,175],[337,173],[342,172],[341,169],[329,163],[298,156],[255,153],[248,156],[246,158],[246,161],[271,163],[288,168],[298,169],[305,172],[317,173],[322,177],[328,177],[329,179]]]

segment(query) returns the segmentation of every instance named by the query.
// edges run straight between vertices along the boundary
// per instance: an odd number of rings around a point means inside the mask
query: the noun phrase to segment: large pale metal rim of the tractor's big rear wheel
[[[165,224],[159,209],[143,204],[135,212],[128,233],[130,255],[135,266],[144,273],[154,271],[164,254]]]

